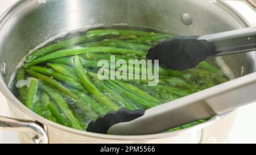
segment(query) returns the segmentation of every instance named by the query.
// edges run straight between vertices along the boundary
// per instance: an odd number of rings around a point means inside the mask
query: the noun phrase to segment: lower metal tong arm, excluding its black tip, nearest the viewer
[[[146,110],[145,114],[138,119],[113,125],[108,133],[111,135],[147,135],[163,132],[252,103],[256,100],[255,90],[256,73],[251,73],[234,79],[232,83],[226,82]]]

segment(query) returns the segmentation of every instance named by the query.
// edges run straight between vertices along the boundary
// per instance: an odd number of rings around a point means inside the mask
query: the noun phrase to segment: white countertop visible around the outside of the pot
[[[5,0],[0,2],[0,14],[12,5],[16,0]],[[238,1],[227,1],[235,7],[245,18],[254,26],[256,26],[256,13],[248,6]],[[7,116],[8,110],[6,99],[0,93],[0,115]],[[232,132],[229,136],[230,143],[256,143],[256,103],[242,107],[238,110],[236,122],[234,123]],[[0,131],[1,143],[19,143],[15,132]]]

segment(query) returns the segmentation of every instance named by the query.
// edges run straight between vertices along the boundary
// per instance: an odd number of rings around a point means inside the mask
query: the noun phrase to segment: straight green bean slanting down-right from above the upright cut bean
[[[32,77],[42,79],[43,82],[47,83],[48,85],[51,85],[55,87],[56,89],[60,90],[61,92],[69,95],[75,100],[78,100],[79,97],[76,94],[73,94],[71,91],[68,90],[67,87],[61,85],[60,82],[57,82],[55,79],[52,79],[50,77],[45,76],[44,74],[37,73],[31,69],[26,69],[26,72],[30,74]]]

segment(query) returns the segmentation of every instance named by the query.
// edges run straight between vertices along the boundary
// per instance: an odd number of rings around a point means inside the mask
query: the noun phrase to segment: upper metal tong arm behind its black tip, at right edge
[[[200,36],[199,40],[207,40],[214,43],[216,56],[255,51],[256,27]]]

